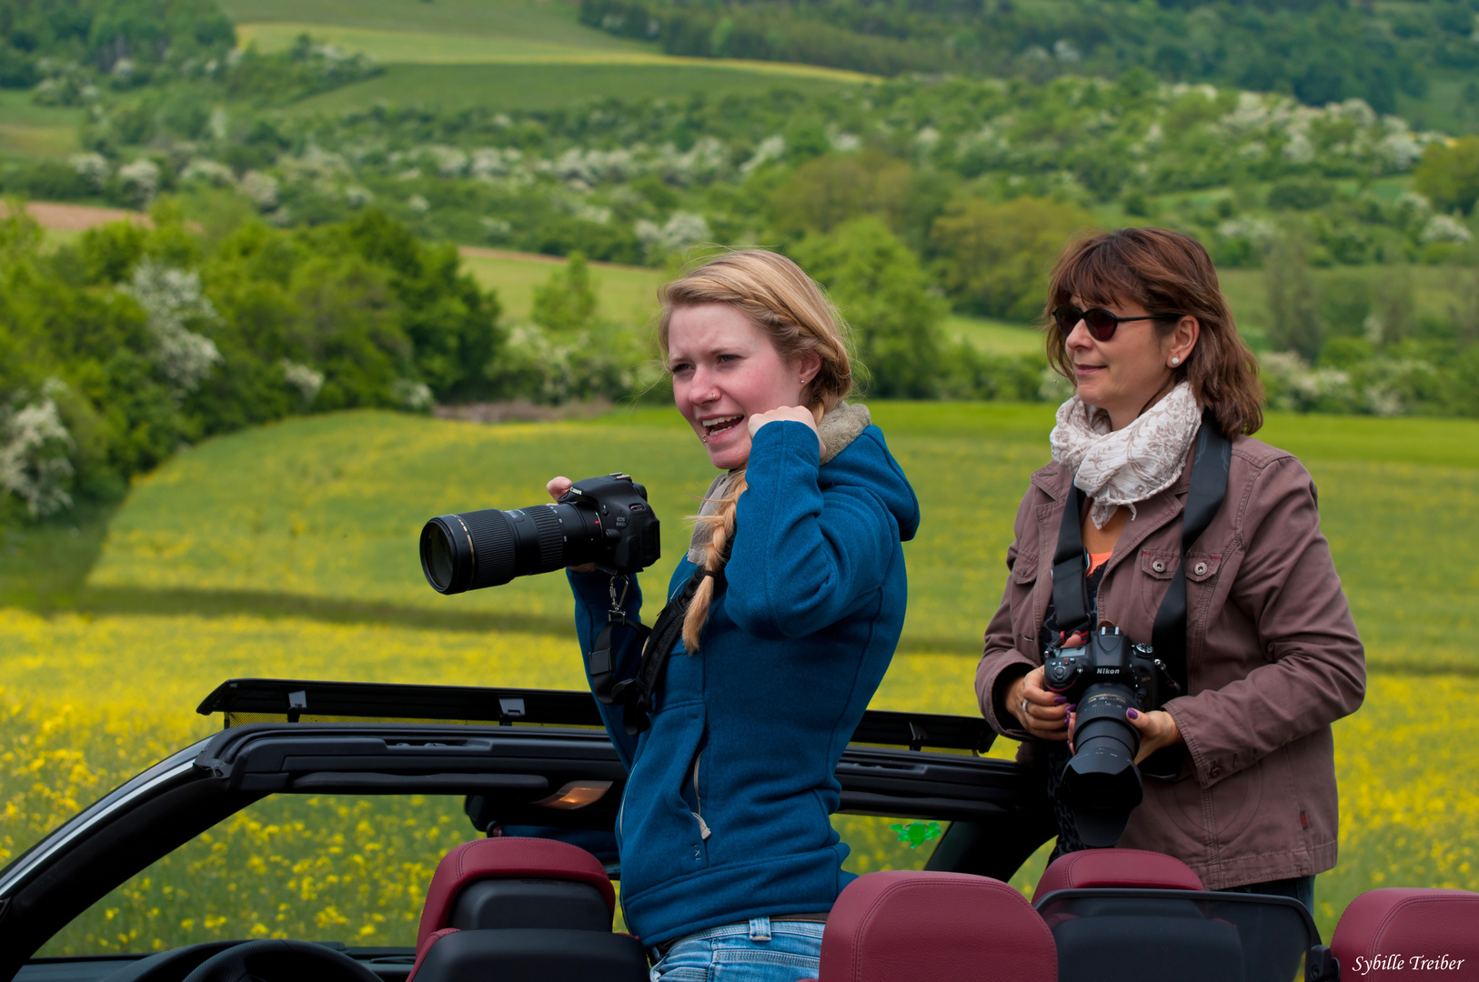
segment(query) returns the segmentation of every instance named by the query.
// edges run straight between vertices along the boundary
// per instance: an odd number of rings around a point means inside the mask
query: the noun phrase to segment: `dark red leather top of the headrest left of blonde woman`
[[[575,880],[589,883],[606,899],[606,907],[615,910],[617,892],[611,889],[606,868],[593,855],[566,842],[553,839],[475,839],[464,842],[442,856],[426,887],[426,907],[422,908],[422,926],[416,933],[416,949],[422,951],[432,935],[451,917],[453,901],[469,883],[478,880],[509,880],[537,877],[540,880]]]

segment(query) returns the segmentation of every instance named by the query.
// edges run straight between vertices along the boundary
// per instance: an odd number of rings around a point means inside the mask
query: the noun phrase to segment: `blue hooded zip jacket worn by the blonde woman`
[[[796,421],[756,433],[703,648],[691,657],[679,642],[640,736],[623,729],[621,707],[600,707],[629,773],[621,907],[645,945],[825,911],[853,878],[830,821],[834,771],[904,627],[899,543],[918,528],[918,501],[876,426],[825,464],[816,444]],[[669,596],[694,569],[677,563]],[[589,660],[609,577],[571,584]],[[629,617],[640,602],[632,590]],[[640,661],[627,636],[612,652],[618,679]]]

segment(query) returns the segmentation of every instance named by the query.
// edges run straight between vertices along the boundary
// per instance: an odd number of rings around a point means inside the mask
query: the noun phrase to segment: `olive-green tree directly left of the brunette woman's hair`
[[[1063,246],[1093,225],[1074,204],[957,198],[930,234],[945,290],[958,308],[1029,321],[1043,309],[1047,275]]]

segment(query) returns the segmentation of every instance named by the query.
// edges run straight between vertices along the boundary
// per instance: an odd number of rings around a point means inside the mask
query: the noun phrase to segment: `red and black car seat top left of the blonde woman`
[[[532,898],[528,905],[543,907],[543,912],[522,917],[528,911],[515,910],[504,923],[484,923],[490,910],[509,912],[506,898],[466,904],[490,880],[512,881],[515,902],[519,896]],[[562,881],[577,889],[568,898],[558,890],[553,898],[540,896],[541,884],[552,881],[556,889]],[[581,908],[572,912],[571,924],[561,923],[562,902]],[[509,981],[645,982],[642,945],[629,935],[611,933],[615,902],[606,868],[578,846],[507,836],[463,843],[442,856],[432,876],[416,938],[416,964],[407,982],[419,973],[424,982],[481,981],[493,978],[490,972]],[[593,921],[592,904],[598,911],[605,904],[603,918]],[[464,918],[461,926],[453,924],[458,915]],[[602,920],[605,926],[598,930]]]

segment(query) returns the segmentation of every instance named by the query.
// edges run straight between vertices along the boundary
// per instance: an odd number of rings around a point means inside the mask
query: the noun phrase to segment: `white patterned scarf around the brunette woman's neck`
[[[1077,395],[1057,407],[1057,426],[1047,438],[1053,460],[1074,472],[1074,487],[1094,500],[1089,516],[1103,528],[1121,504],[1164,491],[1182,476],[1186,453],[1201,429],[1201,410],[1182,382],[1164,399],[1121,430],[1109,414]]]

